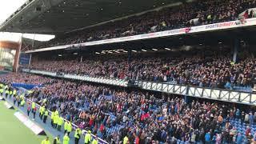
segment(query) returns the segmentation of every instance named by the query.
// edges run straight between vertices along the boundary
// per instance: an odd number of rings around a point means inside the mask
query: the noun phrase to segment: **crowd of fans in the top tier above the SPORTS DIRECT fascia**
[[[135,34],[147,34],[162,30],[226,22],[238,19],[244,10],[256,7],[255,0],[198,0],[180,6],[164,8],[139,16],[110,22],[104,26],[73,32],[54,38],[42,47],[90,42],[108,38],[119,38]],[[254,10],[247,10],[244,18],[254,18]]]

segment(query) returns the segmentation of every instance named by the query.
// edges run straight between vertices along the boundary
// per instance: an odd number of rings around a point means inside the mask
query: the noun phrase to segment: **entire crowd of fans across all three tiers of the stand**
[[[256,7],[255,0],[199,0],[95,27],[90,32],[75,32],[62,40],[54,39],[47,46],[226,22],[237,19],[238,14],[251,7]],[[243,15],[245,18],[255,16],[253,10]],[[232,62],[229,49],[159,53],[135,54],[130,59],[123,54],[98,55],[82,62],[75,58],[50,58],[33,60],[30,68],[210,88],[232,89],[255,84],[256,59],[246,55],[238,62]],[[28,98],[38,103],[46,99],[48,109],[58,109],[66,119],[92,130],[93,134],[110,143],[122,142],[126,136],[130,143],[136,144],[256,142],[256,113],[249,106],[192,98],[185,101],[177,95],[22,73],[5,74],[0,77],[0,82],[43,84],[43,87],[34,88]]]

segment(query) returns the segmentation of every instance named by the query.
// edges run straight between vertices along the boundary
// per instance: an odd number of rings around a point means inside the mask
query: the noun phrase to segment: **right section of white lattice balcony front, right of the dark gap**
[[[169,94],[180,94],[196,98],[209,98],[225,102],[256,105],[256,94],[236,90],[212,89],[198,86],[185,86],[163,82],[135,81],[135,86],[143,90],[154,90]]]

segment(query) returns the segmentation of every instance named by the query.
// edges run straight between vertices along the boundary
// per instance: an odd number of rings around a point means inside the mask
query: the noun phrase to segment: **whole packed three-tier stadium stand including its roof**
[[[255,28],[255,0],[28,1],[0,30],[56,38],[0,94],[70,143],[254,143]]]

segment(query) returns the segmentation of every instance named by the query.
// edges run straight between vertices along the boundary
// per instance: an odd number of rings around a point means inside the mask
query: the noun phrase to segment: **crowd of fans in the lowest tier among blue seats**
[[[48,109],[58,109],[62,116],[110,143],[122,142],[125,136],[136,144],[256,140],[256,114],[250,106],[202,99],[185,102],[177,95],[60,79],[35,88],[29,98],[38,103],[46,98]]]

